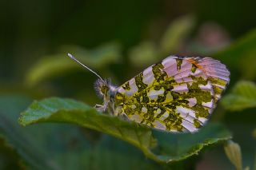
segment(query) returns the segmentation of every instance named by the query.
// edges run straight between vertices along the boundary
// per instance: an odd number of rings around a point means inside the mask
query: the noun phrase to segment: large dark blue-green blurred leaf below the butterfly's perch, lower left
[[[95,134],[90,129],[85,136],[84,128],[74,125],[48,123],[21,128],[18,114],[30,102],[29,97],[0,97],[0,169],[18,169],[17,166],[24,165],[32,169],[63,170],[158,169],[159,165],[145,160],[142,152],[122,140],[104,135],[90,140],[88,133]]]

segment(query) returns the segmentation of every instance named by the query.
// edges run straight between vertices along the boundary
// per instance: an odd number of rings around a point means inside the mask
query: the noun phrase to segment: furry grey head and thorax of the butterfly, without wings
[[[94,88],[98,96],[103,99],[103,105],[96,105],[96,109],[102,113],[114,113],[114,97],[117,92],[117,87],[112,85],[110,80],[98,79],[95,82]]]

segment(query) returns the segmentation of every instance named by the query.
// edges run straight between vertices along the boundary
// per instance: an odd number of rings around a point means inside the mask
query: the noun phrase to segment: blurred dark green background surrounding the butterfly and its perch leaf
[[[101,104],[94,93],[97,77],[66,53],[116,85],[169,55],[222,61],[231,72],[226,93],[238,81],[256,80],[256,2],[252,0],[10,0],[0,6],[0,169],[169,168],[146,159],[124,141],[85,128],[18,125],[19,113],[34,99],[57,96]],[[255,109],[224,108],[218,107],[211,121],[222,122],[233,133],[243,163],[252,168]],[[184,168],[180,164],[174,167]],[[217,146],[190,159],[187,168],[233,166],[222,146]]]

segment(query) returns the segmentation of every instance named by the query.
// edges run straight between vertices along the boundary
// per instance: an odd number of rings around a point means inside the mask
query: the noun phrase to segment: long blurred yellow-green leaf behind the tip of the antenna
[[[50,77],[63,75],[71,69],[81,69],[77,63],[67,57],[72,53],[79,61],[94,69],[120,61],[121,52],[118,44],[106,44],[93,50],[82,49],[78,46],[66,46],[65,53],[42,57],[27,73],[26,85],[38,85]]]

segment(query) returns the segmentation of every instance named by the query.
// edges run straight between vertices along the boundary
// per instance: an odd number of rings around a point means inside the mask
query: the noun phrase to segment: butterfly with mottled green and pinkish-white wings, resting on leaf
[[[98,76],[99,112],[167,132],[197,132],[206,125],[230,82],[230,71],[218,60],[170,56],[118,87],[68,55]]]

